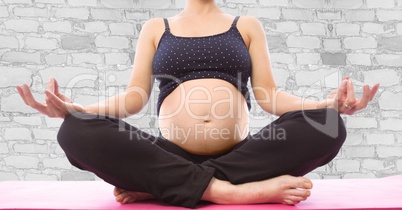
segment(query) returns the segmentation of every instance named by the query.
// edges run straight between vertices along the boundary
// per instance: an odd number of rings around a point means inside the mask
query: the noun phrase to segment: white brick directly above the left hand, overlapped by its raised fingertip
[[[47,82],[51,77],[57,79],[60,87],[79,88],[96,87],[98,72],[94,69],[80,67],[50,67],[39,71],[42,80]],[[47,84],[45,84],[47,85]]]

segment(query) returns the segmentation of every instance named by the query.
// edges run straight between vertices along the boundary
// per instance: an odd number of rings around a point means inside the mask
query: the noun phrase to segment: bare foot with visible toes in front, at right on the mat
[[[232,185],[213,178],[203,200],[218,204],[283,203],[294,205],[306,200],[313,183],[304,177],[284,175],[264,181]]]

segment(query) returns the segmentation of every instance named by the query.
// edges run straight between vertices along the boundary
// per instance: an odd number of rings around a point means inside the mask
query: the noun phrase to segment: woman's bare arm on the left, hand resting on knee
[[[133,72],[124,93],[89,106],[81,106],[60,94],[57,81],[51,79],[45,91],[46,103],[37,102],[27,85],[17,86],[25,104],[49,117],[65,118],[72,112],[87,112],[124,118],[141,111],[147,104],[152,90],[152,61],[156,52],[157,38],[163,33],[160,20],[147,21],[138,38]],[[162,23],[163,24],[163,23]],[[162,31],[161,31],[162,30]]]

